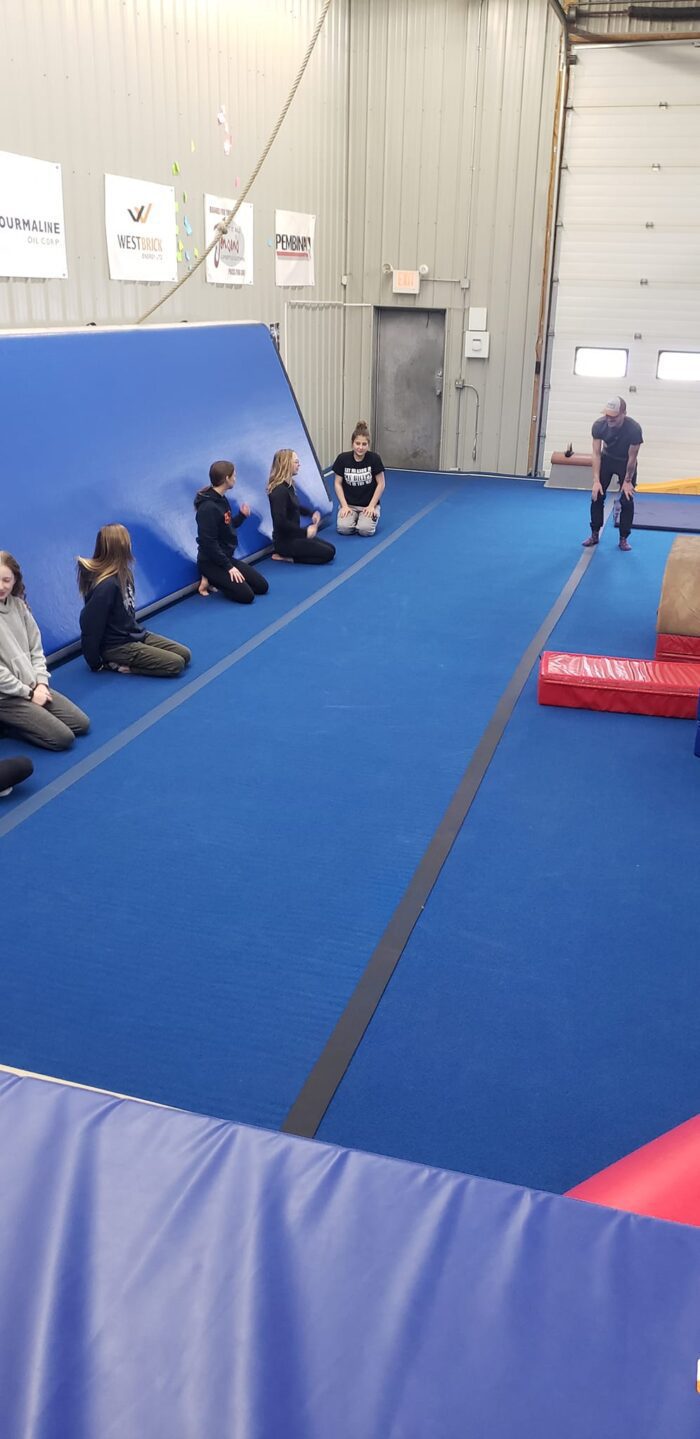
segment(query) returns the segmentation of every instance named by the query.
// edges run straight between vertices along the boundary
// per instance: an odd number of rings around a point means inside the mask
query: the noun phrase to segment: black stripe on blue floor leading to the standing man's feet
[[[382,994],[406,948],[410,934],[425,909],[442,865],[470,813],[477,790],[491,764],[527,676],[552,635],[555,625],[557,625],[569,604],[572,594],[578,590],[593,554],[595,550],[586,550],[580,555],[579,563],[555,600],[547,617],[520,659],[403,898],[393,911],[326,1048],[282,1124],[284,1134],[300,1134],[304,1138],[313,1138],[318,1130],[326,1109],[346,1075]]]

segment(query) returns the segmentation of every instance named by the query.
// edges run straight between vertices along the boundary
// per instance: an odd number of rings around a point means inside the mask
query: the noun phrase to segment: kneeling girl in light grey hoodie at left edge
[[[88,732],[89,720],[49,688],[49,679],[22,570],[14,555],[0,550],[0,730],[42,750],[69,750],[76,734]]]

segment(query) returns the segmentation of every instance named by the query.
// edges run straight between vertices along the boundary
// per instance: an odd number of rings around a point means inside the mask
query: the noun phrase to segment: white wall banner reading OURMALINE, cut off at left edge
[[[68,275],[60,165],[0,150],[0,275]]]

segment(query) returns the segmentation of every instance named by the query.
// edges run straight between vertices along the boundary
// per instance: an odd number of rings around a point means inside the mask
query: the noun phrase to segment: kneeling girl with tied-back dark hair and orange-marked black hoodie
[[[256,594],[268,593],[268,581],[242,560],[233,563],[236,530],[248,519],[249,505],[241,505],[232,514],[226,491],[236,484],[236,466],[230,459],[216,459],[209,471],[209,485],[194,496],[197,512],[197,568],[200,574],[199,593],[209,589],[220,590],[228,600],[238,604],[252,604]]]

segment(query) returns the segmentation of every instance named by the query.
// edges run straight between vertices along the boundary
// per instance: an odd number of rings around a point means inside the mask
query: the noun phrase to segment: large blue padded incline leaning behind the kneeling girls
[[[196,578],[193,498],[212,460],[235,462],[232,502],[251,505],[242,558],[269,543],[277,449],[297,450],[301,496],[331,511],[266,325],[6,335],[0,387],[0,550],[22,564],[48,653],[78,637],[75,557],[99,525],[131,531],[138,607]]]

